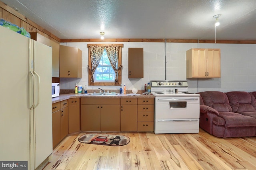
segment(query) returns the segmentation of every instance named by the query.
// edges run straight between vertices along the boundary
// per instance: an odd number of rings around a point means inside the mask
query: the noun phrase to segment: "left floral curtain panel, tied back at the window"
[[[102,57],[104,48],[105,48],[104,46],[99,46],[99,45],[90,46],[90,57],[92,62],[92,68],[90,68],[89,65],[88,65],[88,68],[92,72],[91,82],[94,82],[93,74],[100,63],[100,59]]]

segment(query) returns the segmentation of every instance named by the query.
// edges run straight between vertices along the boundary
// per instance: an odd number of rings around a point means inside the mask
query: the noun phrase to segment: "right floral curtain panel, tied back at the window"
[[[118,82],[118,70],[122,68],[122,64],[118,68],[116,68],[117,67],[116,63],[118,62],[119,46],[111,45],[111,46],[105,46],[105,48],[108,54],[108,59],[110,61],[110,64],[116,74],[115,82]]]

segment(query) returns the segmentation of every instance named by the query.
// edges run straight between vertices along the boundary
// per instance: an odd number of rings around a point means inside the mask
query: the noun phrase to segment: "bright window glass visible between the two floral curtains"
[[[116,73],[110,64],[107,51],[104,49],[100,63],[94,72],[94,82],[115,82],[115,78]]]

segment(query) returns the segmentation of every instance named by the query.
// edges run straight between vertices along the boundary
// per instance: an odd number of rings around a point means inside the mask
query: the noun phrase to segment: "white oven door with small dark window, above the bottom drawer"
[[[199,97],[156,97],[155,119],[199,119]]]

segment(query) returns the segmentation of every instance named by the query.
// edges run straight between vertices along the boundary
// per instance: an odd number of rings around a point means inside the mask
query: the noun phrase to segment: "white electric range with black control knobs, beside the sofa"
[[[152,80],[154,133],[198,133],[199,94],[188,93],[187,81]]]

